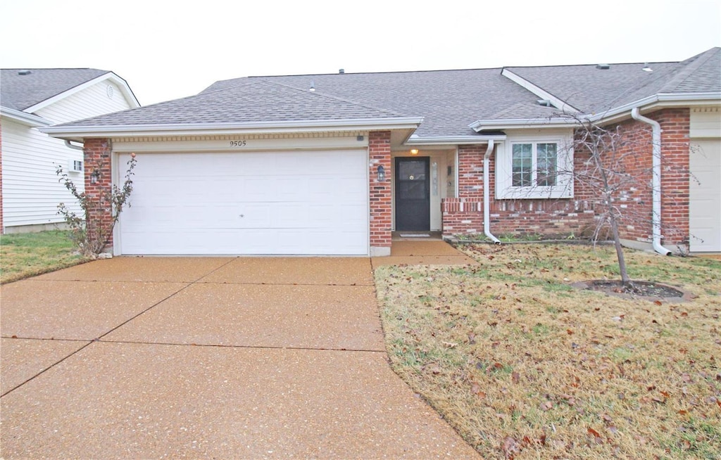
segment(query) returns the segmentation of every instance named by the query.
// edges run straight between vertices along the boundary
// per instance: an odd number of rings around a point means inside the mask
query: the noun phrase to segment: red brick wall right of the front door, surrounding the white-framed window
[[[662,235],[667,245],[681,244],[689,235],[689,109],[664,109],[646,115],[661,125]],[[619,229],[626,240],[647,243],[651,238],[651,127],[629,120],[618,125],[624,133],[619,149],[625,171],[637,180],[619,194],[627,217]],[[615,128],[610,127],[611,129]],[[483,233],[483,155],[485,145],[460,145],[458,198],[441,202],[443,235]],[[574,168],[580,171],[588,153],[576,150]],[[572,199],[495,199],[495,155],[490,158],[490,228],[493,234],[547,237],[590,235],[598,222],[593,191],[575,181]]]

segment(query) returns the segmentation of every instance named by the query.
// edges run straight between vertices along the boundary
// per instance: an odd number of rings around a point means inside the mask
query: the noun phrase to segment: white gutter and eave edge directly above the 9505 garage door
[[[53,126],[42,129],[53,137],[82,140],[87,137],[149,137],[178,135],[256,135],[287,132],[343,132],[415,130],[422,117],[296,120],[286,122],[194,123],[177,125]]]

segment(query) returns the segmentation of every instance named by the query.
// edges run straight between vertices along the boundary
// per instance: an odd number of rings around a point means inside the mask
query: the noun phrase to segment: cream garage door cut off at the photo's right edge
[[[689,168],[690,249],[721,252],[721,141],[691,143]]]

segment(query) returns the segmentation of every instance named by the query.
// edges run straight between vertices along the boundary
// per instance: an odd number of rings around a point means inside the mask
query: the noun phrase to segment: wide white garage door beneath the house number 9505
[[[116,252],[368,254],[365,150],[137,158]]]

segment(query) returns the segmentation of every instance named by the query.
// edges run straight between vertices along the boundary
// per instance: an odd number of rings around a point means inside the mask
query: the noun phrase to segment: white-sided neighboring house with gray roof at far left
[[[2,69],[0,229],[45,230],[63,222],[58,204],[79,212],[57,166],[84,189],[83,153],[37,128],[140,107],[123,78],[94,68]]]

